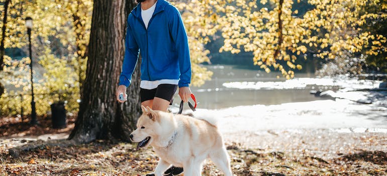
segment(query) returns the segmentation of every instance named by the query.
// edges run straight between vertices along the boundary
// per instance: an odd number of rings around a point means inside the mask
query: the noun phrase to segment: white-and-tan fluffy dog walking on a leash
[[[153,111],[141,106],[143,114],[130,138],[139,142],[137,148],[151,145],[160,157],[154,174],[161,176],[172,164],[183,167],[184,175],[201,175],[206,158],[231,176],[230,157],[222,136],[211,120]]]

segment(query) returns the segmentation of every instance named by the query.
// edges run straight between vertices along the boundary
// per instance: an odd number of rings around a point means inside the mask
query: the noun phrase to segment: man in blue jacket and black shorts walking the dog
[[[116,97],[124,99],[134,68],[141,53],[141,105],[167,111],[179,87],[179,96],[187,102],[191,91],[188,39],[179,11],[165,0],[137,0],[129,14],[125,39],[125,58]],[[167,172],[178,175],[182,168]]]

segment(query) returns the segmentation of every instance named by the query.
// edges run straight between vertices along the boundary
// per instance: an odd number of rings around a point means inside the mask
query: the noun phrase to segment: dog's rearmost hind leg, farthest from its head
[[[210,158],[212,162],[224,173],[225,176],[232,176],[230,168],[230,157],[227,154],[225,146],[220,150],[210,152]]]

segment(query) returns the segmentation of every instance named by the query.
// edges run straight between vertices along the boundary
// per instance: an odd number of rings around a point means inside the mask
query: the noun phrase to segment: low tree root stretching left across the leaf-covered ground
[[[81,144],[81,143],[77,140],[67,140],[67,139],[52,140],[52,141],[38,140],[38,141],[33,141],[26,145],[10,148],[8,151],[12,157],[19,158],[22,152],[33,151],[38,148],[46,148],[47,146],[68,147],[68,146],[73,146],[78,144]]]

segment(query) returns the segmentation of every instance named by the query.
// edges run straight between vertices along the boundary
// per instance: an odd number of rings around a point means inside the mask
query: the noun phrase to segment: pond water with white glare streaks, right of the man
[[[373,89],[380,81],[348,79],[346,76],[317,78],[314,73],[297,73],[296,78],[276,78],[276,72],[238,68],[232,65],[207,65],[214,72],[212,79],[200,87],[191,87],[198,108],[222,109],[250,105],[279,105],[283,103],[334,100],[335,98],[362,103],[387,104],[383,93],[369,95],[350,92],[358,89]],[[331,92],[325,92],[330,91]],[[316,97],[310,91],[321,91],[325,97]],[[174,103],[180,102],[178,91]],[[329,94],[328,94],[329,93]],[[381,102],[381,103],[380,103]],[[178,105],[177,105],[178,106]],[[187,107],[185,107],[187,108]]]

